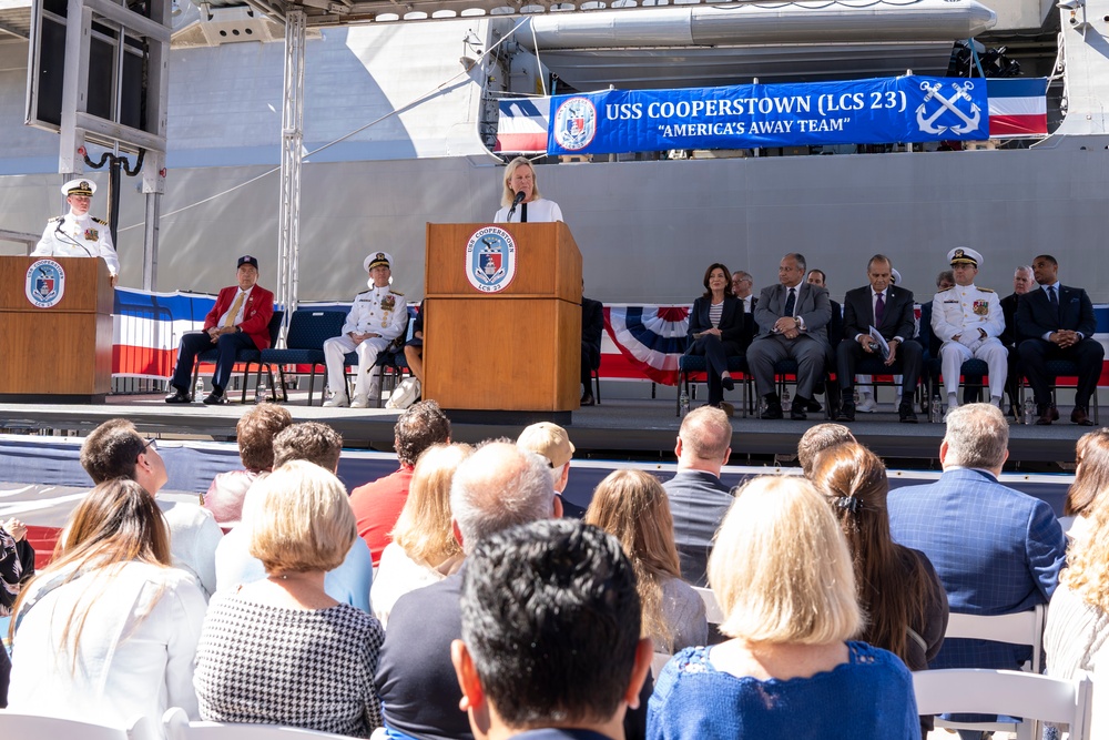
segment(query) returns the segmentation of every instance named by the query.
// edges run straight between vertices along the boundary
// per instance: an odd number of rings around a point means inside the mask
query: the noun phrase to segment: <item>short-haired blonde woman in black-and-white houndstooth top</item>
[[[346,488],[305,460],[277,468],[251,527],[266,578],[212,599],[196,648],[205,720],[368,738],[381,723],[374,617],[336,601],[324,574],[358,539]]]

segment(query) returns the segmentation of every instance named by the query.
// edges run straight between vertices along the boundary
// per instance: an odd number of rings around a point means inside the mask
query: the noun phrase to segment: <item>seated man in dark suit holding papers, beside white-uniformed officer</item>
[[[923,352],[916,342],[906,342],[913,337],[916,325],[913,292],[894,285],[891,281],[892,271],[889,257],[875,254],[866,264],[871,284],[847,291],[844,297],[845,339],[836,351],[836,376],[843,396],[837,420],[855,420],[853,397],[858,361],[868,355],[882,356],[878,343],[871,337],[873,326],[889,345],[885,366],[891,372],[901,369],[903,374],[902,403],[897,414],[902,422],[916,423],[913,396],[920,377]]]

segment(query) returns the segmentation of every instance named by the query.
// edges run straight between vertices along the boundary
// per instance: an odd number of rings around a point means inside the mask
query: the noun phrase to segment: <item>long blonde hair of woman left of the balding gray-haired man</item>
[[[474,453],[469,445],[433,445],[413,470],[408,499],[389,537],[409,558],[431,568],[462,551],[450,526],[450,481]]]

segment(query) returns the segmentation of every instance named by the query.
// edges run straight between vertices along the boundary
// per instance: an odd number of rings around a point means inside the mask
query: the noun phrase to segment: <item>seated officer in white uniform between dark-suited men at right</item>
[[[981,254],[958,246],[947,253],[947,260],[955,273],[955,286],[936,293],[932,301],[932,331],[944,342],[939,358],[947,407],[959,405],[959,368],[975,357],[989,366],[989,403],[1000,408],[1009,372],[1009,353],[998,338],[1005,331],[1001,302],[994,291],[974,284]]]

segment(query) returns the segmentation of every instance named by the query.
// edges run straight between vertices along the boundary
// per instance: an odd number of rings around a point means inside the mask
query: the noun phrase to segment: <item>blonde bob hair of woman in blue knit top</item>
[[[709,556],[709,584],[729,637],[823,645],[863,627],[847,543],[803,478],[760,476],[739,488]]]

